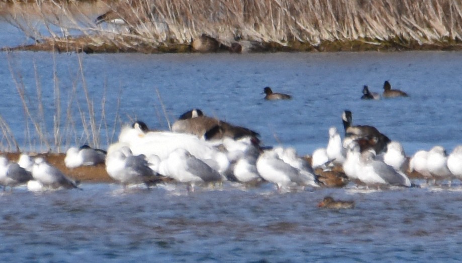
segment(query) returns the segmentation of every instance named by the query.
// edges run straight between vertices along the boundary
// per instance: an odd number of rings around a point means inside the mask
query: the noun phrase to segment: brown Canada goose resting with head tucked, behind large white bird
[[[178,120],[173,123],[172,131],[193,134],[198,138],[204,137],[206,140],[217,140],[223,137],[239,139],[244,136],[256,138],[259,136],[251,129],[205,116],[200,109],[192,109],[181,114]]]

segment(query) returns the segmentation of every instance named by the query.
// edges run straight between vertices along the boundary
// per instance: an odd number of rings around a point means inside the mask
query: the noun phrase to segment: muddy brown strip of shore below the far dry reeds
[[[276,42],[237,41],[222,43],[209,36],[202,36],[190,43],[149,43],[140,42],[133,37],[118,37],[108,40],[98,36],[81,36],[45,39],[32,45],[4,48],[11,51],[47,51],[59,53],[252,53],[252,52],[339,52],[339,51],[410,51],[410,50],[462,50],[462,42],[441,41],[433,44],[421,44],[416,41],[400,42],[395,40],[377,41],[370,39],[321,41],[312,45],[300,41],[284,44]]]

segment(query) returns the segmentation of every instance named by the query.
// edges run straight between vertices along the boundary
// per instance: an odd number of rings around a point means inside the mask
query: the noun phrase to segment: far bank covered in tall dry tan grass
[[[462,49],[458,0],[7,2],[16,16],[9,20],[37,42],[19,47],[26,50],[190,52],[204,48],[193,48],[203,34],[218,41],[204,51],[228,50],[232,43],[243,52]],[[24,22],[31,10],[39,11],[47,34]],[[127,25],[96,25],[109,10]]]

